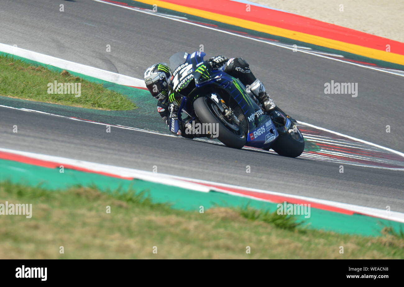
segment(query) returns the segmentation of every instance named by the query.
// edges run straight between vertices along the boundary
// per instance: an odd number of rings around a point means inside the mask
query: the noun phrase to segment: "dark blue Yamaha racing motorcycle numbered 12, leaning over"
[[[190,129],[191,123],[216,125],[217,139],[231,148],[251,146],[300,156],[305,143],[296,121],[280,108],[267,113],[240,80],[223,67],[210,69],[204,56],[178,52],[170,57],[169,98],[179,105],[178,120]]]

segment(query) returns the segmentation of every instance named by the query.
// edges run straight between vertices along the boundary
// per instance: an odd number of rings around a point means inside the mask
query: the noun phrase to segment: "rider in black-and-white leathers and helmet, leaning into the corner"
[[[240,79],[246,86],[246,91],[254,94],[263,108],[270,112],[276,108],[276,104],[267,94],[263,83],[251,72],[248,63],[243,58],[226,58],[215,56],[207,60],[210,69],[219,69],[225,65],[223,71],[232,77]],[[145,71],[145,84],[151,95],[158,100],[157,111],[171,132],[183,137],[193,138],[207,135],[186,134],[185,126],[178,121],[178,104],[170,101],[168,97],[168,80],[173,72],[166,63],[151,65]]]

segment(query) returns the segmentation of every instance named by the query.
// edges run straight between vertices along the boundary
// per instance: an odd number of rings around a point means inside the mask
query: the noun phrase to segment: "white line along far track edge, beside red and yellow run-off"
[[[149,11],[140,10],[140,9],[136,9],[136,8],[132,8],[132,7],[126,7],[126,6],[121,6],[121,5],[110,3],[110,2],[105,2],[103,0],[93,0],[93,1],[104,3],[104,4],[109,4],[109,5],[112,5],[112,6],[117,6],[117,7],[121,7],[121,8],[125,8],[125,9],[129,9],[129,10],[136,11],[136,12],[143,13],[143,14],[153,15],[153,16],[157,16],[157,17],[161,17],[161,18],[165,18],[165,19],[170,19],[170,20],[173,20],[173,21],[177,21],[177,22],[181,22],[181,23],[185,23],[185,24],[189,24],[189,25],[194,25],[194,26],[197,26],[197,27],[202,27],[202,28],[205,28],[205,29],[218,31],[218,32],[221,32],[221,33],[229,34],[229,35],[234,35],[236,37],[241,37],[241,38],[245,38],[245,39],[248,39],[248,40],[253,40],[253,41],[256,41],[256,42],[261,42],[261,43],[269,44],[269,45],[272,45],[272,46],[278,46],[278,47],[285,48],[285,49],[288,49],[288,50],[293,50],[294,49],[292,47],[287,47],[287,46],[285,46],[283,44],[278,44],[278,43],[274,43],[274,42],[268,42],[268,41],[265,41],[265,40],[259,40],[257,38],[248,37],[248,36],[244,36],[244,35],[239,35],[239,34],[236,34],[236,33],[229,32],[229,31],[223,31],[223,30],[220,30],[220,29],[216,29],[216,28],[213,28],[213,27],[208,27],[208,26],[204,26],[204,25],[200,25],[200,24],[196,24],[196,23],[191,23],[189,21],[184,21],[184,20],[181,20],[181,19],[177,19],[177,18],[174,18],[174,17],[170,17],[168,15],[158,14],[156,12],[151,12],[151,10],[149,12]],[[321,54],[318,54],[316,52],[304,51],[304,50],[299,50],[299,49],[297,49],[297,51],[301,52],[301,53],[321,57],[321,58],[330,59],[330,60],[333,60],[333,61],[343,62],[343,63],[346,63],[346,64],[350,64],[350,65],[354,65],[354,66],[358,66],[358,67],[362,67],[362,68],[366,68],[366,69],[371,69],[371,70],[375,70],[375,71],[379,71],[379,72],[383,72],[383,73],[389,73],[389,74],[392,74],[392,75],[404,77],[403,73],[396,73],[394,71],[389,71],[389,70],[382,69],[382,68],[371,67],[371,66],[366,66],[366,65],[354,63],[354,62],[340,60],[340,59],[332,58],[332,57],[329,57],[329,56],[321,55]]]

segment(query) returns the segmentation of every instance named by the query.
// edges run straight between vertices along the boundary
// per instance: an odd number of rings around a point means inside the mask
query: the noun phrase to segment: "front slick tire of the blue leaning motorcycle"
[[[229,123],[211,98],[197,98],[194,101],[194,110],[202,123],[217,124],[217,127],[219,127],[217,139],[226,146],[230,148],[242,148],[246,144],[247,139],[242,128],[234,123]]]

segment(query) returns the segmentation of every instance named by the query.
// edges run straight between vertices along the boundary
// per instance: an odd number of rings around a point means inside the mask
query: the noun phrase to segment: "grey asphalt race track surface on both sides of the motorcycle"
[[[242,56],[300,121],[403,152],[404,78],[92,0],[2,0],[0,43],[142,78],[178,51]],[[111,52],[105,46],[111,45]],[[358,97],[324,83],[358,83]],[[0,99],[0,104],[2,104]],[[140,106],[140,108],[142,108]],[[157,114],[150,121],[164,125]],[[18,133],[12,132],[18,125]],[[386,133],[386,125],[391,133]],[[0,147],[152,170],[404,212],[402,171],[285,158],[211,143],[0,108]],[[246,173],[246,165],[251,173]]]

